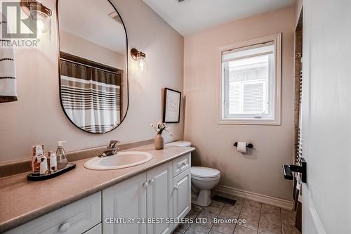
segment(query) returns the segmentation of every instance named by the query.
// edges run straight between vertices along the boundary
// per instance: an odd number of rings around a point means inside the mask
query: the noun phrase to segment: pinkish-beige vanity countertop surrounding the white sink
[[[144,145],[130,150],[150,152],[152,160],[135,167],[94,171],[84,167],[84,162],[89,160],[85,159],[75,161],[77,167],[72,171],[46,181],[27,181],[28,173],[0,178],[0,233],[192,152],[194,148],[165,145],[163,150],[154,150],[154,145]]]

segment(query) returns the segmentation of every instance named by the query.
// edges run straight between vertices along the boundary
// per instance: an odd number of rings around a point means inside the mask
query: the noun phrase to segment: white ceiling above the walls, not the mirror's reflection
[[[251,15],[291,6],[296,0],[143,0],[180,34],[188,35]]]

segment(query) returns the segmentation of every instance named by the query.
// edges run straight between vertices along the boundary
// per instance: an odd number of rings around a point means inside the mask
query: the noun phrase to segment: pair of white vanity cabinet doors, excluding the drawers
[[[102,233],[171,233],[166,219],[173,217],[172,167],[167,162],[102,190]]]

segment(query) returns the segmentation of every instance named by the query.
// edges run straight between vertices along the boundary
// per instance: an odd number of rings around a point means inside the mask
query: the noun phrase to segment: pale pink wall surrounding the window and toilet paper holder
[[[185,37],[185,139],[197,147],[195,163],[219,169],[221,185],[291,200],[282,164],[293,161],[293,7],[229,22]],[[218,47],[282,32],[282,125],[217,124]],[[235,141],[255,146],[248,155]]]

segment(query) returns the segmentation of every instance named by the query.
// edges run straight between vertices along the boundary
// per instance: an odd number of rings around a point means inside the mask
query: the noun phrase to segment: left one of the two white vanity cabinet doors
[[[102,233],[146,234],[146,187],[142,173],[102,190]]]

